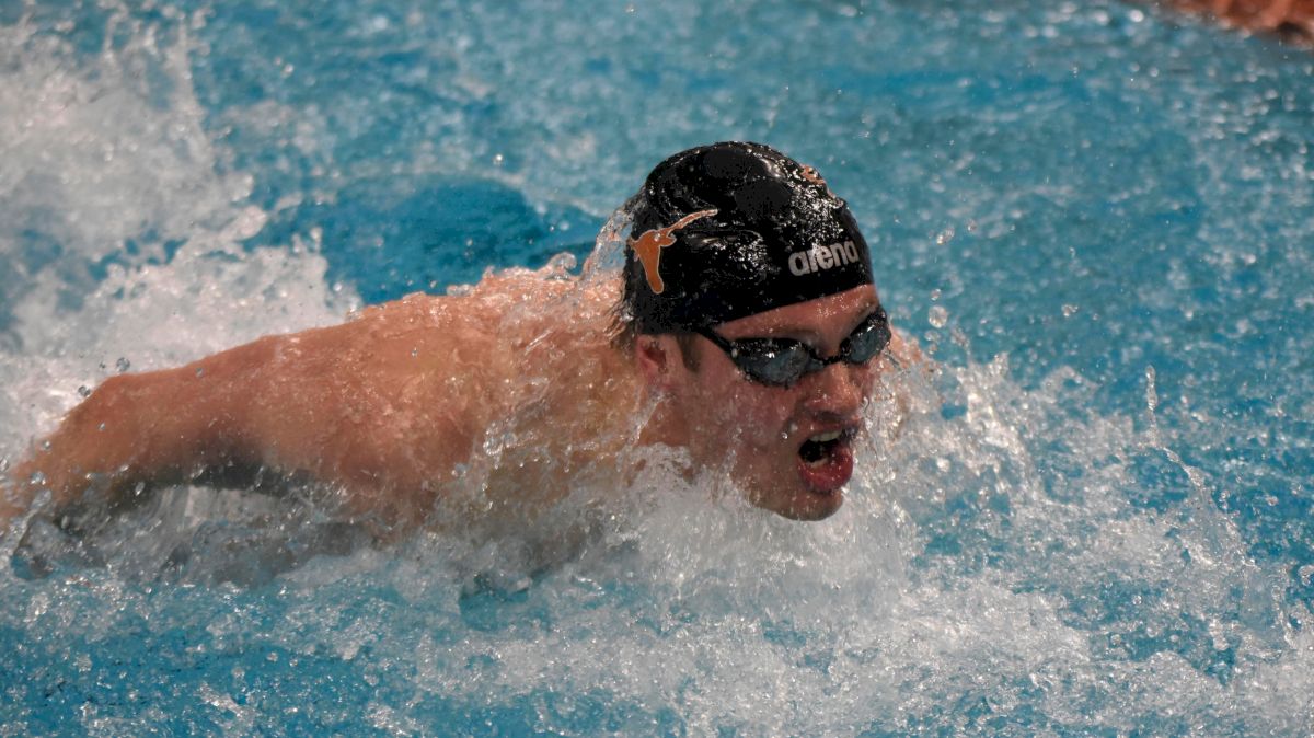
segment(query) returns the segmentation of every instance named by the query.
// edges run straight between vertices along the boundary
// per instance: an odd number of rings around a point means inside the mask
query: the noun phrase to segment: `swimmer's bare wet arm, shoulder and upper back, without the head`
[[[139,483],[268,467],[327,482],[326,504],[380,529],[532,515],[632,439],[620,428],[641,391],[608,343],[614,299],[514,271],[112,377],[12,471],[9,510],[42,488],[57,507],[88,487],[120,502]]]

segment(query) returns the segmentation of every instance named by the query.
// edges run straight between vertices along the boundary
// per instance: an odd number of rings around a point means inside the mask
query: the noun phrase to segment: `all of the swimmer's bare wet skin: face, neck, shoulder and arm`
[[[327,482],[344,516],[388,531],[523,523],[581,483],[624,485],[633,470],[618,460],[644,444],[687,448],[695,473],[728,471],[788,517],[840,507],[842,458],[808,473],[799,449],[861,427],[886,358],[767,387],[699,337],[694,370],[669,335],[640,336],[632,353],[610,344],[618,292],[507,272],[469,294],[411,295],[342,326],[112,377],[11,471],[0,521],[42,490],[57,507],[114,502],[205,470],[268,467]],[[857,288],[719,331],[832,355],[875,305],[871,286]]]

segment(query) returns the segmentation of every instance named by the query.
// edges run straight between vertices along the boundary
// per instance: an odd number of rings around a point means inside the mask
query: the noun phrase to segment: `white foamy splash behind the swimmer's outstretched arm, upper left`
[[[243,248],[267,215],[246,202],[248,176],[218,171],[187,24],[114,17],[127,41],[91,60],[28,24],[0,28],[0,260],[13,274],[0,286],[0,456],[109,373],[356,306],[326,286],[317,244]]]

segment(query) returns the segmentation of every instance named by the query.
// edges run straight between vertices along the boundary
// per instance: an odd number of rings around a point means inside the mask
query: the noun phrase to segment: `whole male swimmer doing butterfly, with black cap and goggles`
[[[629,207],[619,278],[511,271],[105,380],[11,471],[0,523],[46,491],[114,506],[271,470],[348,517],[442,528],[616,488],[653,445],[757,507],[833,513],[865,402],[916,353],[846,204],[767,146],[716,143],[658,164]]]

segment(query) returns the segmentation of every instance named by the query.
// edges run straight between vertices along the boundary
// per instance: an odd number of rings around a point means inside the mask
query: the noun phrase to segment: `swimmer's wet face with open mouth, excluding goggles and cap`
[[[875,288],[863,285],[731,320],[716,332],[728,340],[796,339],[834,356],[878,305]],[[888,366],[886,355],[866,364],[830,364],[779,387],[746,378],[706,337],[694,339],[691,352],[695,368],[674,361],[666,389],[694,462],[728,462],[753,504],[786,517],[820,520],[838,510],[853,475],[862,407]]]

